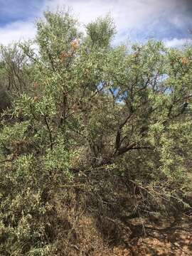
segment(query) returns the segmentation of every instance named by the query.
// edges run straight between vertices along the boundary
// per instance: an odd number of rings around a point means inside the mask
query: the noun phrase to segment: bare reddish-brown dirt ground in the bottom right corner
[[[178,223],[174,221],[171,224],[165,220],[159,225],[144,224],[142,235],[130,239],[128,243],[129,247],[114,247],[112,255],[190,256],[192,255],[192,218],[182,218]]]

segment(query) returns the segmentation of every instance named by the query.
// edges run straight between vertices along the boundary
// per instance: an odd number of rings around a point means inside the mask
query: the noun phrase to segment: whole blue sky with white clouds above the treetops
[[[162,40],[169,47],[192,42],[192,0],[0,0],[0,44],[33,38],[43,11],[70,7],[81,24],[110,14],[114,44]]]

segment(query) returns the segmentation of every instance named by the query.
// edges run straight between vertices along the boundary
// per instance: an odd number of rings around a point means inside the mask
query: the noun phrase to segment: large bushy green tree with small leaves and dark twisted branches
[[[115,170],[158,191],[162,206],[164,198],[180,203],[190,189],[191,47],[112,47],[109,17],[86,28],[80,33],[68,12],[46,12],[37,23],[38,53],[30,42],[21,45],[33,87],[6,112],[10,120],[1,118],[6,255],[53,252],[51,199],[63,196],[60,186],[76,173]]]

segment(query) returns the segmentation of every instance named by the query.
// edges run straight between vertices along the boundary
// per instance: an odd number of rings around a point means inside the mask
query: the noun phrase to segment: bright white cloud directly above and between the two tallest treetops
[[[155,16],[161,5],[156,0],[47,0],[45,8],[55,10],[61,6],[71,6],[80,22],[88,23],[98,16],[111,14],[118,31],[142,26]],[[154,3],[154,4],[153,4]]]

